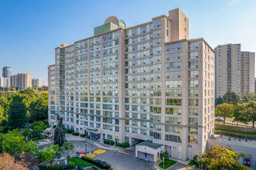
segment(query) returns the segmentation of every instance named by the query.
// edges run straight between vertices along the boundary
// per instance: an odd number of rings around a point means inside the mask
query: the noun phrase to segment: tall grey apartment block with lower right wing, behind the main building
[[[223,97],[227,92],[242,97],[254,91],[254,53],[242,52],[240,44],[217,46],[215,53],[216,97]],[[248,60],[252,63],[247,63]]]

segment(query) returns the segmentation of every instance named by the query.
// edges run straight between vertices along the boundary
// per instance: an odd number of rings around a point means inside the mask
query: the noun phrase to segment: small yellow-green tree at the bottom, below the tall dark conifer
[[[51,145],[49,148],[44,148],[43,151],[40,151],[38,156],[41,162],[50,162],[50,167],[52,167],[54,159],[61,158],[60,147]]]

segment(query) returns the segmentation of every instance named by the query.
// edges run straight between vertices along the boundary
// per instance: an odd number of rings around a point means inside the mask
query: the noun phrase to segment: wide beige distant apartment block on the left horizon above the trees
[[[18,73],[10,76],[11,87],[17,87],[19,90],[32,87],[32,75],[29,73]]]

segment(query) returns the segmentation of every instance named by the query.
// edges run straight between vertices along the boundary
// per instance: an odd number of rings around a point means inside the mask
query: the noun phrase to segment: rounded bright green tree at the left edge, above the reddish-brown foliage
[[[8,131],[2,135],[2,138],[2,151],[10,155],[19,155],[22,152],[22,146],[26,143],[18,129]]]

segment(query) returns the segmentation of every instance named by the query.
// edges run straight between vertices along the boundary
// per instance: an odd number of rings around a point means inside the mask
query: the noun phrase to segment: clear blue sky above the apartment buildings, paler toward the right
[[[0,75],[11,66],[13,74],[47,83],[57,46],[93,36],[111,15],[130,27],[174,8],[189,18],[189,39],[204,38],[213,49],[241,43],[243,51],[256,52],[255,0],[0,0]]]

